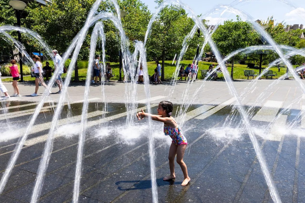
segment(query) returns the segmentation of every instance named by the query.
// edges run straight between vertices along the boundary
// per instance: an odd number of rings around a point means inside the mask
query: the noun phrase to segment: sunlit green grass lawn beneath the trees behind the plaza
[[[192,60],[182,61],[181,65],[184,65],[186,67],[189,63],[192,63]],[[111,64],[111,67],[112,67],[114,75],[115,75],[114,77],[111,78],[111,80],[119,80],[119,64],[118,63],[110,63],[110,64]],[[203,61],[199,62],[198,79],[203,79],[201,77],[200,70],[208,69],[210,64],[212,64],[212,63],[211,62],[203,62]],[[154,74],[154,69],[156,68],[156,63],[153,62],[153,61],[152,62],[147,62],[147,66],[148,66],[149,75],[153,75]],[[228,71],[231,74],[231,65],[227,65],[227,66],[228,66]],[[267,67],[267,66],[263,66],[263,67]],[[165,75],[164,75],[165,79],[166,80],[171,80],[173,72],[176,69],[176,66],[172,65],[172,61],[165,61],[164,69],[165,69]],[[255,72],[259,72],[259,69],[250,69],[250,68],[247,68],[247,65],[234,64],[234,74],[233,74],[234,79],[247,79],[247,77],[244,76],[244,70],[254,70]],[[273,78],[278,78],[281,75],[286,73],[286,67],[282,67],[280,69],[280,72],[278,72],[278,68],[276,68],[276,67],[271,68],[271,70],[278,74],[278,76],[275,76]],[[79,77],[79,80],[81,82],[84,82],[86,80],[86,75],[87,75],[87,68],[78,69],[78,77]],[[218,76],[221,79],[224,79],[222,73],[218,74]],[[66,74],[64,73],[62,75],[62,77],[65,78]],[[123,73],[122,73],[122,77],[123,77]],[[265,78],[266,77],[262,77],[262,79],[265,79]],[[31,78],[30,76],[27,76],[27,77],[23,77],[23,80],[31,81],[31,80],[34,80],[34,78]],[[5,79],[2,79],[2,81],[13,81],[13,79],[12,78],[5,78]],[[74,81],[74,71],[72,73],[71,81]]]

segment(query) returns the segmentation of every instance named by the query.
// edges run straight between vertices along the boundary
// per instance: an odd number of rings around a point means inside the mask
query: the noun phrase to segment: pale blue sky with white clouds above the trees
[[[229,4],[233,0],[181,0],[188,4],[194,12],[205,14],[207,11],[213,9],[218,4]],[[239,0],[242,1],[234,6],[236,9],[242,10],[252,16],[255,20],[267,20],[269,16],[273,16],[275,22],[284,21],[286,24],[303,24],[305,25],[305,3],[304,0]],[[142,0],[148,6],[151,12],[155,12],[157,4],[154,0]],[[291,7],[284,2],[290,3]],[[217,13],[206,17],[210,20],[209,24],[215,24],[221,13]],[[235,20],[236,14],[226,14],[221,16],[221,22],[224,20]],[[304,26],[305,28],[305,26]]]

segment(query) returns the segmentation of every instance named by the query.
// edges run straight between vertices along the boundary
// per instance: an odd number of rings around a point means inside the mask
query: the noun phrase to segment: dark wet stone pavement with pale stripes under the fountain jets
[[[283,93],[285,96],[279,95],[273,94],[267,99],[275,100],[274,105],[281,100],[277,109],[268,108],[266,100],[253,109],[250,122],[282,202],[305,202],[304,136],[272,130],[281,120],[274,121],[274,118],[281,109],[289,106],[291,98],[296,97],[295,91],[289,89]],[[213,99],[206,104],[191,105],[181,126],[189,143],[184,161],[191,181],[185,187],[181,186],[183,174],[178,164],[175,165],[176,179],[162,180],[169,174],[167,156],[171,140],[164,136],[162,124],[153,122],[159,202],[273,202],[249,135],[246,130],[240,129],[240,115],[237,114],[234,122],[227,126],[231,131],[224,128],[228,125],[227,118],[232,116],[231,104],[234,100],[226,94]],[[245,109],[250,108],[246,104],[253,104],[252,99],[246,98]],[[41,203],[72,202],[83,105],[78,101],[71,102],[70,107],[65,104],[61,112],[39,199]],[[0,109],[1,126],[6,126],[8,119],[16,130],[15,134],[9,135],[4,133],[3,128],[0,130],[3,136],[0,138],[0,178],[37,102],[8,101],[4,104],[6,109]],[[56,101],[52,105],[56,105]],[[52,105],[45,103],[36,119],[0,196],[1,203],[30,202],[52,122]],[[157,104],[152,105],[152,112],[156,113]],[[103,106],[99,101],[89,103],[79,202],[152,202],[146,121],[135,121],[133,127],[126,130],[125,104],[109,102],[106,112]],[[174,104],[173,115],[180,106]],[[145,108],[145,105],[139,103],[138,108],[142,107]],[[301,111],[300,105],[289,108],[282,115],[286,125],[293,122]],[[102,115],[105,119],[101,119]],[[302,122],[297,126],[301,126]]]

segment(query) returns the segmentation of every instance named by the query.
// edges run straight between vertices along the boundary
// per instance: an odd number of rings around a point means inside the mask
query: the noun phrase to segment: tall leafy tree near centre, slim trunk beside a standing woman
[[[160,4],[162,0],[156,0]],[[162,59],[161,80],[164,81],[164,61],[166,55],[174,56],[177,50],[181,49],[181,44],[188,34],[194,22],[189,18],[184,9],[176,9],[172,6],[164,8],[152,25],[151,36],[147,42],[149,54]]]

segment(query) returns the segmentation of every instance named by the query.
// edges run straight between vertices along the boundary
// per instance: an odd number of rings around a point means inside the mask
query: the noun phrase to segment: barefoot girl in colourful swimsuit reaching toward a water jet
[[[184,180],[182,182],[182,186],[188,184],[191,180],[188,177],[188,170],[186,168],[185,163],[183,162],[183,155],[186,149],[187,140],[183,136],[180,127],[176,123],[175,119],[171,117],[171,112],[173,111],[173,104],[171,102],[163,101],[159,103],[158,106],[158,116],[145,113],[142,109],[142,112],[138,112],[137,117],[139,120],[144,117],[151,117],[152,120],[160,121],[164,123],[164,134],[169,135],[172,138],[172,144],[170,145],[170,152],[168,155],[169,164],[170,164],[170,175],[163,178],[164,181],[174,179],[175,176],[175,156],[177,155],[177,163],[180,165]],[[141,119],[140,119],[141,118]]]

